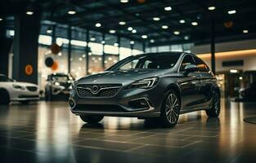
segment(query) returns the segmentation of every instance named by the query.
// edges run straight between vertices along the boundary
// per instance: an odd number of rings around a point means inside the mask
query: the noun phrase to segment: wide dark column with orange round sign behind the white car
[[[13,78],[38,83],[38,35],[41,14],[34,7],[33,15],[26,15],[25,7],[15,16]]]

